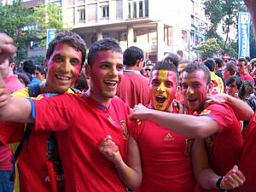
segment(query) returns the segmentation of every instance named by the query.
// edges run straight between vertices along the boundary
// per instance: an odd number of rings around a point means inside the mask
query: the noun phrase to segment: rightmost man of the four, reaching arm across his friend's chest
[[[210,167],[219,176],[224,176],[234,165],[238,165],[240,160],[240,124],[233,109],[227,104],[212,104],[207,108],[204,107],[207,94],[211,92],[212,88],[210,82],[209,70],[204,65],[189,64],[183,71],[182,91],[185,102],[189,109],[198,113],[199,116],[163,113],[139,105],[134,108],[131,117],[150,119],[184,137],[206,138]],[[240,102],[240,104],[242,107],[247,108],[244,103]],[[239,108],[241,106],[238,105]],[[229,159],[226,160],[226,157]],[[200,164],[196,166],[193,163],[193,165],[195,174],[196,172],[200,173],[203,167],[200,167]],[[217,184],[218,188],[224,188],[223,181],[225,180],[222,177],[217,175],[211,177],[209,181],[208,177],[203,177],[206,172],[201,173],[196,175],[196,179],[199,183],[205,183],[203,186],[205,189],[211,189],[215,184]],[[242,183],[243,179],[240,182]],[[239,184],[241,184],[240,182]],[[204,191],[205,189],[198,186],[195,191]],[[217,191],[216,189],[211,191]]]

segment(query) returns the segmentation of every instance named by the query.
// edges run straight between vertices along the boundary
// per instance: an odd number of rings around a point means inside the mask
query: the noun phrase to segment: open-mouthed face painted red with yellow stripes
[[[176,73],[172,71],[153,71],[149,82],[151,108],[160,111],[170,108],[176,95],[176,79]]]

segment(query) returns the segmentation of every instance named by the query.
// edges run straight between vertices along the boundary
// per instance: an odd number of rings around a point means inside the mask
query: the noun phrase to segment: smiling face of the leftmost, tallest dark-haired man
[[[49,60],[46,86],[50,91],[64,93],[79,78],[82,53],[68,44],[57,44]]]

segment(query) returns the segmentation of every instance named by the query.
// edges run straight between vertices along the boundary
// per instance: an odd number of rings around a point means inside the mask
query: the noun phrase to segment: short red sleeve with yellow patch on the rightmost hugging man
[[[218,133],[231,129],[236,115],[228,105],[212,104],[205,108],[200,116],[207,116],[218,123]]]

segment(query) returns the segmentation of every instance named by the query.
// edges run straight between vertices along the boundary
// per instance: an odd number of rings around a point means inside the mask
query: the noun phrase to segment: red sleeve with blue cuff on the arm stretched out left
[[[79,105],[73,94],[32,99],[34,130],[63,131],[73,122],[73,111]]]

